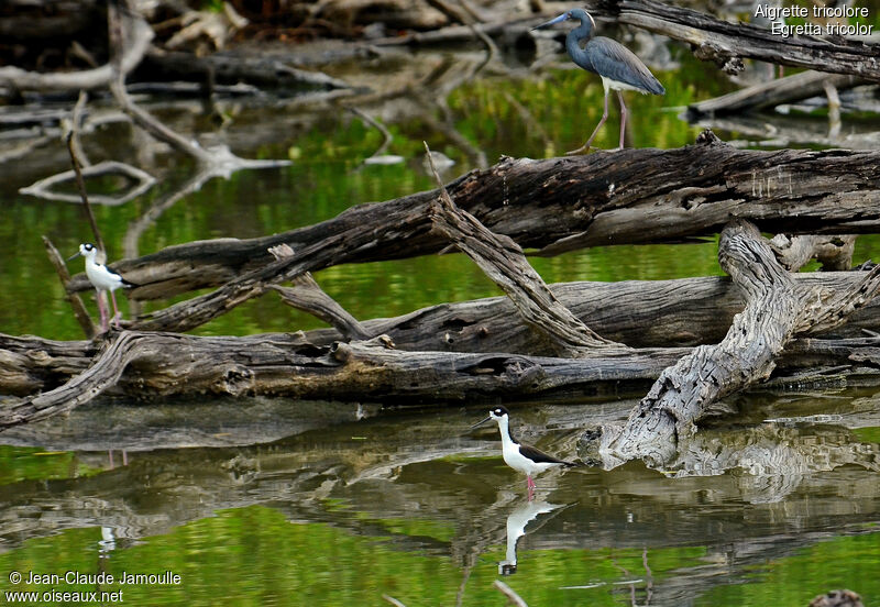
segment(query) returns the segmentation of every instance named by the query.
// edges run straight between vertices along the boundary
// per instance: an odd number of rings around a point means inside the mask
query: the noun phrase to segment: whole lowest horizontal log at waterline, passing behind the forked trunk
[[[0,401],[0,428],[45,419],[100,395],[132,398],[272,395],[373,402],[461,402],[642,388],[691,349],[598,351],[557,358],[502,352],[394,350],[383,340],[317,346],[301,334],[204,338],[118,333],[95,342],[52,342],[0,335],[0,391],[32,393]],[[822,367],[846,380],[880,368],[877,340],[805,340],[782,354],[780,368]],[[843,368],[842,368],[843,367]],[[809,383],[810,377],[801,378]],[[64,383],[66,382],[66,383]],[[45,390],[41,394],[38,390]]]

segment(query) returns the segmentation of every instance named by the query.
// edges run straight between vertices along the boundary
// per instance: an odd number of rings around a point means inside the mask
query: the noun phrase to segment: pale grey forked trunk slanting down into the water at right
[[[714,401],[769,377],[796,334],[844,322],[880,289],[880,266],[844,293],[799,288],[760,232],[741,220],[722,232],[718,261],[743,289],[745,310],[721,343],[697,346],[664,369],[623,429],[607,427],[598,437],[591,434],[601,441],[606,466],[631,459],[664,465],[675,455],[679,437],[692,433]]]

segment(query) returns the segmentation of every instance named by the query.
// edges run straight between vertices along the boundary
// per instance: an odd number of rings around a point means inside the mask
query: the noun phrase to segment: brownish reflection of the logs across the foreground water
[[[583,416],[583,407],[561,411],[568,411],[572,426]],[[553,410],[554,420],[559,412]],[[270,410],[264,413],[271,424]],[[106,427],[101,407],[74,418],[78,419],[72,419],[72,427]],[[411,423],[416,419],[420,423]],[[534,421],[528,431],[543,426]],[[124,545],[129,539],[164,534],[218,510],[268,505],[298,523],[320,522],[388,539],[398,550],[452,556],[466,567],[487,551],[504,553],[506,519],[521,499],[509,490],[518,481],[497,457],[464,456],[496,449],[495,441],[459,434],[466,422],[468,416],[452,413],[383,416],[316,428],[268,445],[136,453],[128,466],[102,472],[94,470],[105,465],[97,455],[78,454],[80,463],[92,467],[91,475],[4,485],[0,545],[10,550],[29,539],[89,527],[113,528],[117,542]],[[199,427],[196,419],[191,423]],[[703,547],[706,555],[693,567],[654,581],[659,599],[684,593],[685,586],[693,592],[693,575],[707,584],[726,583],[756,563],[828,538],[870,532],[869,525],[880,514],[880,487],[871,482],[878,445],[860,442],[848,430],[766,426],[710,430],[707,438],[694,443],[694,456],[710,461],[721,449],[732,455],[725,461],[741,472],[700,476],[692,470],[674,483],[641,466],[553,477],[541,489],[549,492],[548,501],[576,504],[530,532],[520,541],[520,551],[647,547],[650,560],[654,547]],[[106,432],[103,440],[110,444],[113,437]],[[46,444],[65,448],[61,441]],[[700,449],[706,451],[698,453]],[[768,467],[781,462],[774,450],[784,450],[800,466],[798,484],[785,486],[784,503],[771,499],[779,487],[765,487],[749,472],[756,462]],[[738,464],[733,456],[737,452],[743,454]],[[433,537],[388,523],[411,520],[414,504],[419,505],[418,520],[436,521],[451,531]]]

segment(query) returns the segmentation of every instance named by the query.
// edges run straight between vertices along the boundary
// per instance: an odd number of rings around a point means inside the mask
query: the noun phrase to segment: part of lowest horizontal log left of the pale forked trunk
[[[20,378],[19,368],[31,366],[29,356],[38,355],[45,365],[46,350],[52,346],[22,352],[15,339],[2,340],[0,380],[10,375]],[[2,402],[0,428],[68,411],[118,382],[122,390],[141,397],[210,393],[460,401],[479,394],[521,397],[618,379],[648,380],[684,352],[669,349],[587,362],[505,353],[404,352],[388,349],[381,340],[318,347],[296,334],[198,338],[123,331],[111,338],[94,365],[68,383]]]

